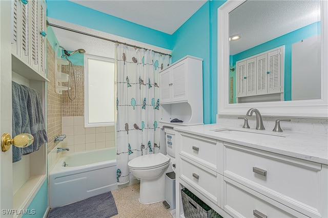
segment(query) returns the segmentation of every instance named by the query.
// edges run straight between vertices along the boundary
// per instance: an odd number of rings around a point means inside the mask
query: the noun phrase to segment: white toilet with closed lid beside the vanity
[[[173,171],[175,162],[174,131],[165,129],[167,155],[143,155],[129,161],[131,173],[140,179],[141,204],[151,204],[165,199],[165,173]],[[170,167],[168,167],[171,165]]]

